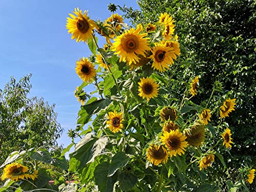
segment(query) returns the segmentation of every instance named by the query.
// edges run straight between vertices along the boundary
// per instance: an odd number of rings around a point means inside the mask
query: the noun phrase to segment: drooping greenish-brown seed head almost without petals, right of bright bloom
[[[204,125],[195,123],[190,128],[190,133],[186,133],[186,141],[191,146],[199,146],[204,142],[205,129]]]

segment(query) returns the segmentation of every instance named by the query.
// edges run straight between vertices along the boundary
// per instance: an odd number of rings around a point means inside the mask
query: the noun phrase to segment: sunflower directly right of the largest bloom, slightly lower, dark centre
[[[173,51],[174,48],[166,47],[163,44],[155,44],[152,49],[152,55],[149,57],[153,59],[152,68],[157,69],[159,72],[164,72],[169,69],[169,64],[173,65],[176,55]]]

